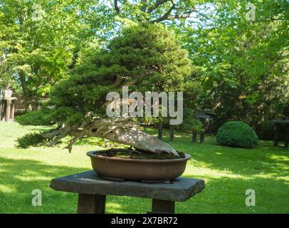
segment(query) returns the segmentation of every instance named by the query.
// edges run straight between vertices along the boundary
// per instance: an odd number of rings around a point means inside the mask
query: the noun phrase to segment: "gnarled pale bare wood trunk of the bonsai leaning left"
[[[79,138],[98,137],[130,145],[140,151],[157,154],[169,153],[179,156],[171,145],[152,135],[137,130],[137,125],[132,122],[132,118],[130,117],[110,119],[94,118],[81,129],[66,126],[52,133],[43,134],[43,137],[53,138],[51,145],[54,145],[61,140],[61,138],[68,135],[73,137],[66,147],[69,151],[71,151],[73,144]]]

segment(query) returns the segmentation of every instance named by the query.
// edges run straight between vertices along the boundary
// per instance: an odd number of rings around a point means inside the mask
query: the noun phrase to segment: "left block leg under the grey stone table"
[[[105,195],[78,194],[78,214],[105,214]]]

